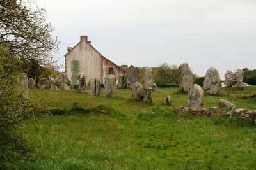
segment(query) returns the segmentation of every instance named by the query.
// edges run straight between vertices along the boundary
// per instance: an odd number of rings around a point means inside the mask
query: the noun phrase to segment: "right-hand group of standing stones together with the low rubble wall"
[[[243,87],[243,70],[237,69],[234,73],[227,71],[225,73],[225,83],[227,87]],[[228,115],[230,117],[242,118],[250,120],[256,124],[256,110],[248,111],[243,108],[235,109],[236,106],[227,100],[219,99],[219,106],[213,108],[203,108],[204,92],[207,94],[218,94],[220,92],[221,80],[218,70],[210,67],[205,74],[203,88],[194,84],[192,73],[187,63],[181,64],[179,67],[179,87],[180,90],[188,92],[189,107],[180,106],[175,109],[175,114],[180,112],[184,115]]]

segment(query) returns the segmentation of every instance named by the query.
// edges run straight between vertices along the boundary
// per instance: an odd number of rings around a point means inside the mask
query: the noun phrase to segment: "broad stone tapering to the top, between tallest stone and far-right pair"
[[[205,74],[203,89],[209,94],[218,94],[220,92],[221,80],[219,72],[214,67],[210,67]]]

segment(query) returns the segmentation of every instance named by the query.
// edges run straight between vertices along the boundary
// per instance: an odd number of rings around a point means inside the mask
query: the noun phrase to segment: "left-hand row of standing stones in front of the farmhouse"
[[[108,75],[104,78],[104,96],[113,96],[116,89],[116,76]],[[143,99],[146,103],[152,102],[152,90],[154,87],[154,73],[150,67],[145,67],[144,85],[138,82],[139,69],[138,67],[130,66],[127,76],[121,75],[118,78],[117,88],[130,88],[132,89],[132,99],[139,101]],[[36,82],[33,78],[29,78],[23,73],[21,78],[21,87],[25,88],[28,94],[28,87],[35,88]],[[61,90],[70,90],[71,82],[68,80],[67,74],[61,73],[55,79],[50,76],[49,78],[42,78],[38,81],[37,87],[39,89],[57,90],[56,82],[61,83]],[[100,81],[98,78],[91,78],[87,84],[88,94],[90,96],[100,95]],[[86,79],[84,74],[79,75],[77,82],[77,91],[84,93],[86,91]]]

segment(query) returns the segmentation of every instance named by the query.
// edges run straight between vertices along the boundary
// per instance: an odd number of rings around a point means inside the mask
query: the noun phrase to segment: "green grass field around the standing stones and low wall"
[[[187,95],[177,88],[155,89],[153,104],[132,101],[129,89],[115,92],[94,97],[31,90],[30,96],[67,114],[24,123],[38,159],[19,162],[20,169],[256,169],[256,125],[220,116],[175,116],[174,108],[187,106]],[[253,86],[221,89],[220,95],[204,96],[204,107],[218,106],[222,98],[255,110],[254,94]],[[161,106],[166,95],[173,106]],[[72,113],[74,102],[83,108],[100,104],[106,112]]]

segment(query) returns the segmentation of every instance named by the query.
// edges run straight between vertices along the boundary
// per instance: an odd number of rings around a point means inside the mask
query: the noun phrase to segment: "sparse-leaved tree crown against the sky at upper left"
[[[52,38],[53,28],[45,22],[45,8],[32,0],[0,1],[0,45],[8,46],[13,57],[38,61],[40,66],[59,68],[52,52],[58,41]]]

